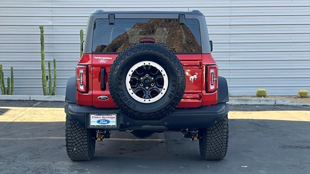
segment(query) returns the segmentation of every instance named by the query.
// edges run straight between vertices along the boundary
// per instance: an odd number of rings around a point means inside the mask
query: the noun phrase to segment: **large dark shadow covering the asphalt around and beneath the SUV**
[[[64,122],[0,122],[0,173],[306,173],[310,170],[310,122],[230,119],[224,160],[205,161],[198,142],[179,132],[132,141],[112,132],[96,143],[93,160],[66,155]],[[126,139],[126,140],[122,140]],[[165,141],[161,141],[165,139]]]

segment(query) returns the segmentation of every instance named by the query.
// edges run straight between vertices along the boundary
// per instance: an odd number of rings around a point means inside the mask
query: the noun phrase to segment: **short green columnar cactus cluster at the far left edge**
[[[14,70],[11,67],[11,78],[7,78],[7,87],[4,84],[4,73],[2,65],[0,65],[0,87],[2,95],[13,95],[14,94]]]

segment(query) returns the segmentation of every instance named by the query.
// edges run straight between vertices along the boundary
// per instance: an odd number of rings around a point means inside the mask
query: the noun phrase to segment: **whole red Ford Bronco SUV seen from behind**
[[[228,87],[200,11],[95,10],[82,47],[65,96],[71,160],[91,160],[111,131],[180,131],[199,140],[203,159],[225,157]]]

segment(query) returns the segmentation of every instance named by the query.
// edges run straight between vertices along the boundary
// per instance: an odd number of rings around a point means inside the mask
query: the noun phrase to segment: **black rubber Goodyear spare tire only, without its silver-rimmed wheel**
[[[143,61],[160,65],[169,78],[165,93],[151,103],[135,100],[126,88],[128,72]],[[109,72],[109,92],[113,101],[124,114],[136,120],[157,120],[170,114],[183,97],[185,83],[180,60],[169,49],[155,43],[138,43],[127,48],[114,60]]]

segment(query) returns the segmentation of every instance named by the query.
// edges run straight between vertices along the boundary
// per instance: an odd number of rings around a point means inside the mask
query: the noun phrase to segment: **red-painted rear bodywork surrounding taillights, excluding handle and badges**
[[[112,63],[117,54],[85,54],[82,56],[79,64],[89,65],[89,92],[81,94],[77,92],[77,100],[80,105],[95,106],[98,108],[116,108],[109,93],[108,74]],[[206,93],[205,91],[205,66],[216,65],[211,54],[177,54],[183,64],[186,75],[186,88],[183,99],[179,103],[179,108],[193,108],[202,105],[217,104],[217,91],[214,93]],[[105,82],[101,82],[101,67],[106,68]],[[190,76],[197,74],[197,79],[192,81]],[[106,90],[101,90],[101,83],[106,84]],[[100,101],[99,96],[108,96],[109,100]]]

